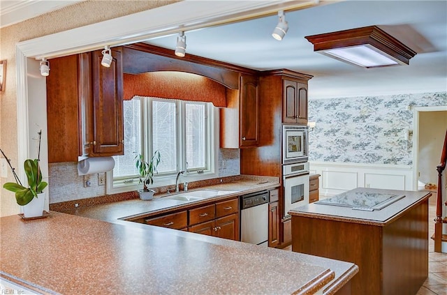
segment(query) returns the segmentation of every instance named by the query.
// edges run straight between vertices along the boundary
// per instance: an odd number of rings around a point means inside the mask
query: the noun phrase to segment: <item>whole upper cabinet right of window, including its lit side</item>
[[[240,149],[258,146],[258,77],[240,75],[239,89],[227,89],[227,107],[220,109],[221,147]]]

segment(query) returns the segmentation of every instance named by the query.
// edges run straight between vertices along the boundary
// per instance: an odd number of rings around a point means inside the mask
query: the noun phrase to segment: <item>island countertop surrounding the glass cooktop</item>
[[[427,191],[410,190],[383,190],[377,188],[356,188],[351,192],[376,192],[381,194],[404,195],[393,204],[386,206],[381,210],[362,211],[353,210],[351,207],[334,206],[328,204],[316,204],[300,206],[291,209],[289,213],[292,216],[304,216],[328,220],[339,220],[344,222],[362,223],[367,225],[385,226],[399,218],[406,210],[417,206],[420,202],[425,202],[432,195]]]

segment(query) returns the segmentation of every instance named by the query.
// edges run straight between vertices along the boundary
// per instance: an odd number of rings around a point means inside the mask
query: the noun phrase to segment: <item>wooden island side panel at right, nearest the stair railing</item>
[[[383,228],[383,293],[416,294],[428,276],[428,199]]]

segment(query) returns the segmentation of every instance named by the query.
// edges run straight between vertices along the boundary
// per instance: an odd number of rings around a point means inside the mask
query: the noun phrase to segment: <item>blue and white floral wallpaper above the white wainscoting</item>
[[[309,160],[412,165],[411,107],[447,105],[447,93],[309,100]]]

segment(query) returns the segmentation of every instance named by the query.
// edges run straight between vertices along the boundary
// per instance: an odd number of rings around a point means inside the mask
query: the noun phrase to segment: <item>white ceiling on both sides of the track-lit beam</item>
[[[1,27],[78,1],[0,0]],[[272,38],[277,15],[186,31],[186,54],[257,70],[287,68],[313,75],[309,98],[447,91],[447,1],[320,1],[286,11],[288,33]],[[304,37],[378,25],[417,52],[409,66],[360,68],[313,52]],[[175,49],[177,35],[146,42]]]

